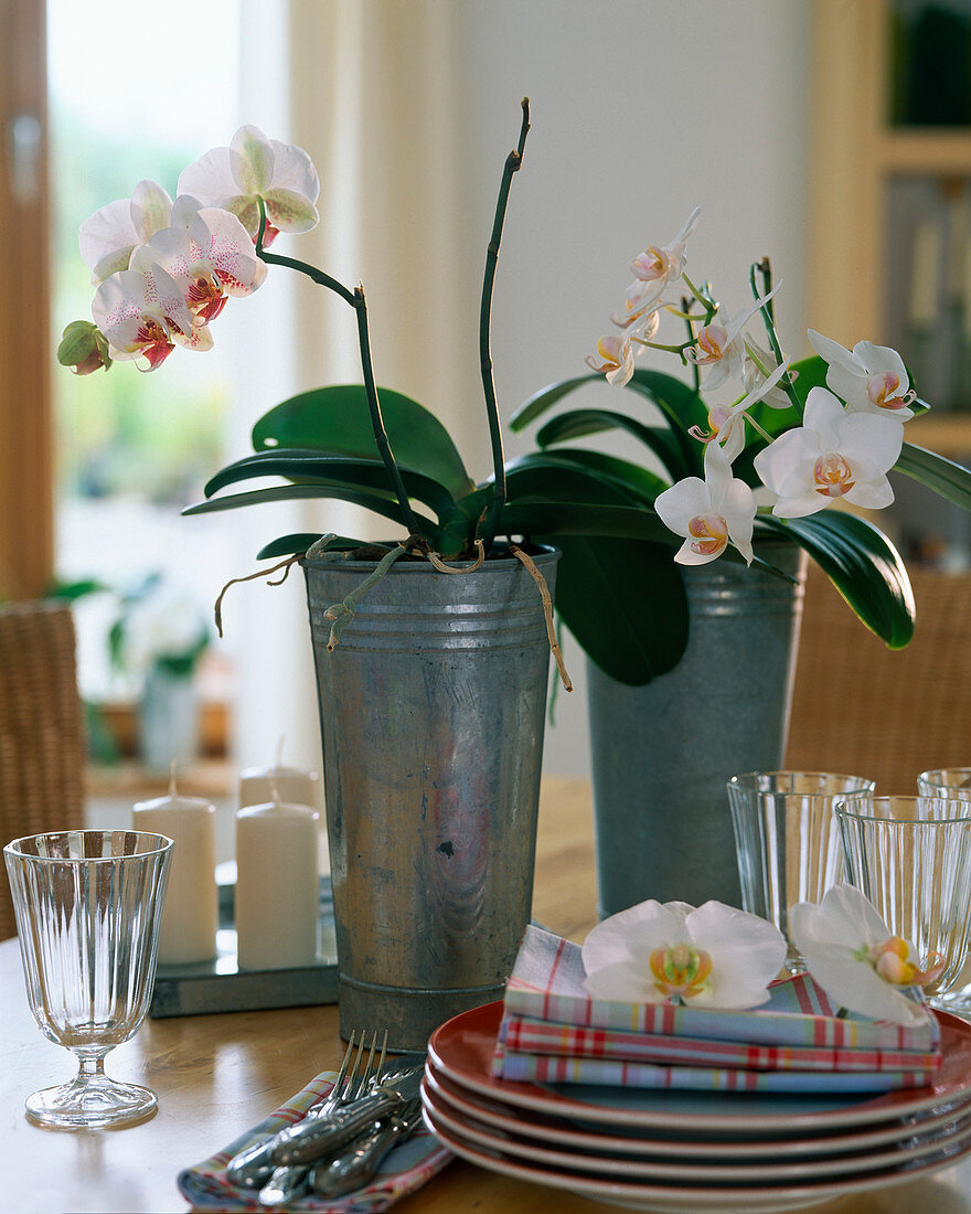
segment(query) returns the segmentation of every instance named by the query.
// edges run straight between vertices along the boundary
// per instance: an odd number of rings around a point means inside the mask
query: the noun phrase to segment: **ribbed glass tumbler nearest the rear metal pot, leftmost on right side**
[[[825,771],[750,771],[728,781],[742,908],[785,936],[785,968],[806,965],[789,935],[789,909],[818,902],[842,879],[839,801],[869,804],[874,782]]]

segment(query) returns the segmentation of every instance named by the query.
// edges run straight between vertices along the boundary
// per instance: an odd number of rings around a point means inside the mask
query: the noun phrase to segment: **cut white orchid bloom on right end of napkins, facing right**
[[[927,1019],[927,1011],[903,991],[932,982],[944,963],[931,958],[921,970],[913,959],[913,944],[890,934],[856,886],[834,885],[822,902],[794,906],[789,931],[813,980],[833,1003],[895,1025]]]

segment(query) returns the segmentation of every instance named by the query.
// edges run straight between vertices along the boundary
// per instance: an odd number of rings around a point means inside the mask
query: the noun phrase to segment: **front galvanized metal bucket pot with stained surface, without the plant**
[[[534,557],[552,591],[560,554]],[[374,569],[305,561],[334,881],[341,1032],[424,1050],[502,997],[529,921],[549,642],[515,558],[398,561],[333,652],[324,612]]]

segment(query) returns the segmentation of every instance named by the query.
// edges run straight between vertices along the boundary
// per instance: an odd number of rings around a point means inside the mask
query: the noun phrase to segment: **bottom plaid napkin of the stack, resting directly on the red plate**
[[[693,1091],[891,1091],[922,1088],[931,1071],[746,1071],[739,1067],[648,1066],[612,1059],[515,1054],[500,1042],[493,1074],[534,1083],[594,1083],[612,1088]]]

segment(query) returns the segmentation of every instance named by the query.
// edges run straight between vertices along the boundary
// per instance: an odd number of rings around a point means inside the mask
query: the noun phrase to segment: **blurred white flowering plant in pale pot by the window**
[[[138,680],[138,750],[146,768],[166,775],[198,754],[195,674],[211,641],[195,600],[155,573],[123,599],[108,634],[112,662]]]

